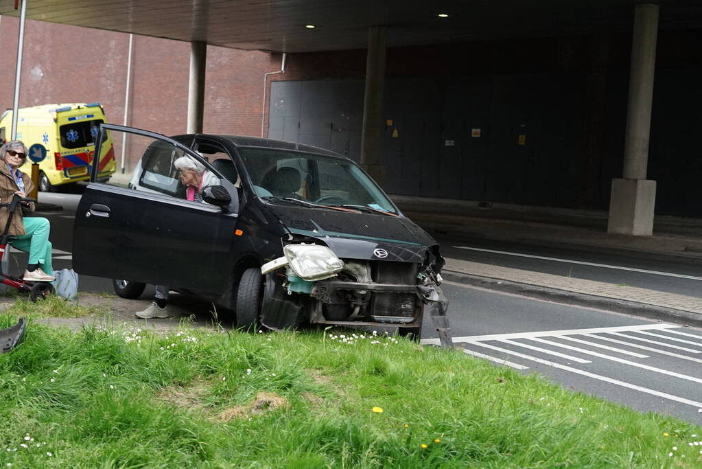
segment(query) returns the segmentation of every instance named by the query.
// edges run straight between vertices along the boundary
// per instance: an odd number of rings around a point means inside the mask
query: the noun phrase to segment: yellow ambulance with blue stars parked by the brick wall
[[[0,117],[3,142],[11,138],[12,114],[12,110],[6,110]],[[35,143],[46,148],[46,158],[39,163],[39,190],[51,192],[58,185],[90,178],[98,125],[104,122],[100,103],[48,104],[18,110],[16,138],[27,148]],[[98,180],[109,179],[117,169],[109,136],[104,147],[110,150],[98,161]],[[28,160],[22,171],[31,174],[31,164]]]

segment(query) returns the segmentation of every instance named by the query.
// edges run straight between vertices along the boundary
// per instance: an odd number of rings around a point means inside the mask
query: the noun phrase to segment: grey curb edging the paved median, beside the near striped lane
[[[576,293],[575,291],[552,289],[546,286],[521,284],[491,277],[479,277],[478,275],[463,274],[451,270],[442,270],[442,277],[452,282],[479,286],[489,290],[504,291],[505,293],[515,293],[539,300],[585,306],[588,308],[599,308],[621,312],[626,315],[656,319],[661,322],[674,322],[675,324],[681,324],[683,326],[702,327],[702,315],[698,315],[695,312],[663,308],[662,306],[637,303],[635,301],[618,300],[616,298],[608,298],[607,296],[587,295],[585,293]]]

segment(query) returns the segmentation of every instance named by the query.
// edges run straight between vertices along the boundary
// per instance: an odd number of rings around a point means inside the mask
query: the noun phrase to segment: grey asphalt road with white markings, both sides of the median
[[[60,212],[44,213],[52,223],[55,268],[70,267],[74,212],[79,197],[79,194],[39,194],[41,202],[64,207]],[[545,249],[519,249],[519,246],[462,246],[550,258],[564,255]],[[570,260],[590,263],[692,276],[696,273],[687,265],[613,259],[592,253],[582,253],[581,257],[569,254]],[[700,285],[695,279],[582,264],[569,266],[560,260],[451,246],[444,246],[444,255],[560,275],[568,269],[569,275],[581,278],[690,295],[698,294]],[[13,254],[12,270],[23,268],[25,259],[22,253]],[[80,286],[81,291],[112,291],[108,279],[81,276]],[[640,411],[675,415],[702,425],[702,330],[453,282],[444,283],[444,292],[450,301],[451,331],[456,345],[465,349],[466,359],[470,359],[469,355],[491,359],[500,363],[496,366],[511,366],[527,374],[536,372],[569,390],[597,395]],[[430,319],[425,320],[423,337],[436,337]]]

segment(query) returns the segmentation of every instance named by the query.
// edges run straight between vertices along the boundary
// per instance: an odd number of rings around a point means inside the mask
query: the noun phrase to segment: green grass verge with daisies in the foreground
[[[701,465],[695,425],[457,350],[334,334],[30,321],[25,343],[0,355],[0,467]]]

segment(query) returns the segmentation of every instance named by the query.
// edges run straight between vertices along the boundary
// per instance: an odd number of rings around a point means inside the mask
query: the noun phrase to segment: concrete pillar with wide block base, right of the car
[[[612,180],[610,233],[650,236],[654,226],[656,181],[647,180],[651,105],[656,67],[658,5],[635,7],[623,178]]]

